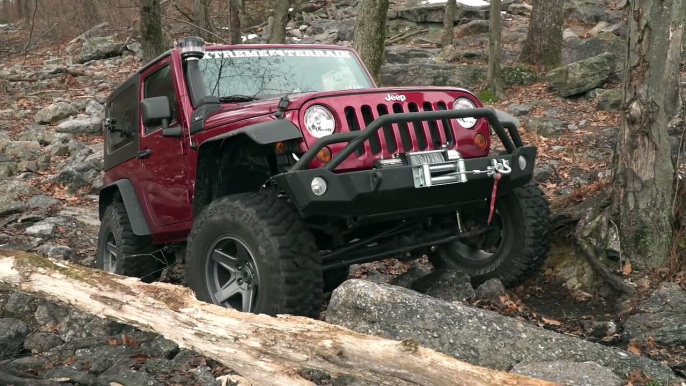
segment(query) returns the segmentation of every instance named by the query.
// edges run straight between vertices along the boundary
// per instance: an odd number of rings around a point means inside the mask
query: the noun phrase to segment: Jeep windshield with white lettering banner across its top
[[[345,50],[207,51],[200,71],[207,94],[226,102],[373,87],[357,58]]]

